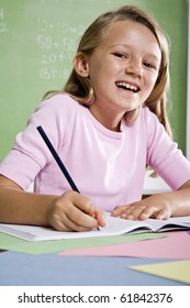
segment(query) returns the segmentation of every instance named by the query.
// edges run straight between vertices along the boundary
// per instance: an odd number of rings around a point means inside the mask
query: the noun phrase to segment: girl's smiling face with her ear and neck
[[[158,77],[161,52],[154,34],[133,21],[116,21],[92,55],[82,59],[94,90],[91,113],[116,129],[125,112],[142,106]]]

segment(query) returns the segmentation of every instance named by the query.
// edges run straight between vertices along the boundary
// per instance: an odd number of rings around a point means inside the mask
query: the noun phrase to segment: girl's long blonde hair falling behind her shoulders
[[[148,13],[138,7],[124,6],[119,10],[101,14],[83,33],[77,53],[91,55],[107,35],[111,25],[115,21],[125,20],[143,24],[152,31],[158,42],[161,52],[161,63],[154,89],[144,102],[144,106],[147,106],[158,117],[167,133],[172,138],[166,109],[167,90],[169,89],[169,41],[158,23]],[[79,76],[75,68],[72,68],[63,91],[69,94],[82,105],[88,106],[93,102],[94,92],[90,79]],[[58,91],[49,91],[47,95],[56,92]],[[137,114],[138,109],[135,109],[126,112],[125,119],[127,122],[133,122]]]

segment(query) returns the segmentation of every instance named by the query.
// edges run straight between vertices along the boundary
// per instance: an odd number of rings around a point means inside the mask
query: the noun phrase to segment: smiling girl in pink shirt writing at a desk
[[[81,37],[63,91],[51,91],[0,166],[0,221],[85,231],[125,219],[190,215],[190,163],[166,114],[168,43],[135,7],[100,15]],[[81,194],[71,191],[42,125]],[[174,191],[142,200],[146,165]],[[26,193],[34,182],[34,193]]]

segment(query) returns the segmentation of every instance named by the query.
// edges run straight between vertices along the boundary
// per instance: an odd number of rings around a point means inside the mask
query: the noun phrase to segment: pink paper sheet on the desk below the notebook
[[[187,231],[168,232],[166,238],[98,248],[64,251],[60,255],[135,256],[156,258],[190,258],[190,237]]]

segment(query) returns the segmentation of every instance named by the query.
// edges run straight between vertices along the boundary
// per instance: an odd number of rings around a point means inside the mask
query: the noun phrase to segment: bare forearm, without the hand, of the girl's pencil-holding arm
[[[0,222],[49,226],[49,211],[56,196],[0,188]]]

